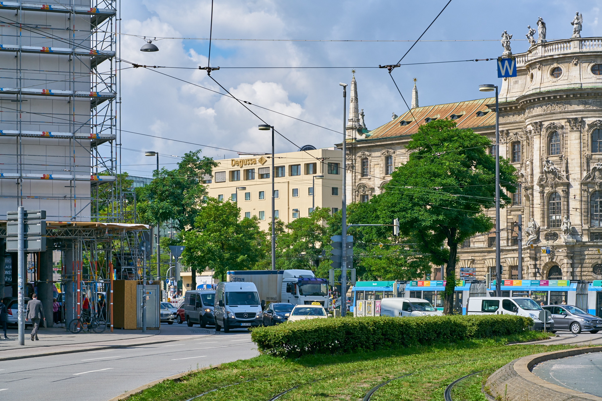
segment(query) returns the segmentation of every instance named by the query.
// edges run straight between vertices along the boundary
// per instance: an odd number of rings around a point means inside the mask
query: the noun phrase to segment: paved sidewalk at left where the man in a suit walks
[[[0,361],[166,343],[213,334],[213,330],[186,325],[161,325],[159,330],[147,330],[146,333],[141,330],[117,329],[102,334],[87,331],[73,334],[59,327],[40,328],[38,331],[40,340],[31,341],[30,332],[31,329],[25,330],[25,345],[20,346],[17,329],[9,328],[7,330],[9,339],[0,339]]]

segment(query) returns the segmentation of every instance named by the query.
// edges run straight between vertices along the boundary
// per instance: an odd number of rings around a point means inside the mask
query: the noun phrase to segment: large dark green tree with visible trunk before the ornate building
[[[491,142],[450,120],[424,124],[412,135],[409,160],[394,171],[378,195],[378,213],[385,221],[400,220],[400,230],[430,256],[447,264],[444,313],[452,313],[458,244],[486,233],[492,221],[485,210],[495,205],[495,159],[486,153]],[[515,168],[500,158],[500,182],[516,191]],[[500,191],[501,206],[510,198]],[[447,242],[447,246],[444,243]]]

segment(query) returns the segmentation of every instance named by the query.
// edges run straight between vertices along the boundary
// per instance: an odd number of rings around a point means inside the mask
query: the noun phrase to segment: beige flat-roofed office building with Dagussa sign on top
[[[303,147],[303,148],[308,148]],[[272,220],[272,154],[238,155],[238,158],[217,160],[213,177],[205,180],[210,197],[237,201],[241,218],[257,216],[259,227],[268,230]],[[341,150],[330,147],[290,153],[275,157],[276,218],[285,224],[307,217],[315,207],[327,207],[330,212],[341,208],[343,176]],[[324,176],[323,179],[314,177]],[[245,188],[245,189],[240,189]]]

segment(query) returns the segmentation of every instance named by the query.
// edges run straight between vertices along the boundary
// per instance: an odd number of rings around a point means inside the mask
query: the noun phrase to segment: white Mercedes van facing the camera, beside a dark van
[[[253,283],[219,283],[213,308],[216,331],[261,326],[263,310]]]

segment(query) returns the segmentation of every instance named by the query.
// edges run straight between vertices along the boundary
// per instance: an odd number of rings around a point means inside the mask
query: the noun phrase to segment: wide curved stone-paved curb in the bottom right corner
[[[495,390],[495,393],[498,393],[498,396],[500,396],[500,392],[496,389],[504,388],[502,393],[508,391],[504,396],[513,400],[521,399],[521,397],[524,396],[523,391],[526,391],[529,394],[539,394],[541,399],[548,400],[571,399],[602,401],[602,397],[581,393],[580,391],[552,384],[544,379],[540,379],[531,372],[532,367],[538,363],[574,357],[575,355],[588,354],[590,352],[602,352],[602,346],[543,352],[541,354],[533,354],[519,358],[492,373],[486,381],[486,386],[489,388],[489,391]],[[483,390],[484,387],[485,386],[483,386]],[[494,397],[485,393],[485,391],[483,391],[483,393],[488,400],[494,400]]]

